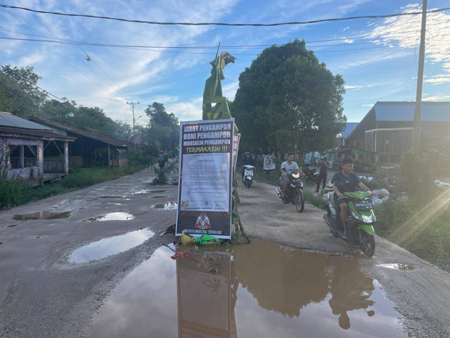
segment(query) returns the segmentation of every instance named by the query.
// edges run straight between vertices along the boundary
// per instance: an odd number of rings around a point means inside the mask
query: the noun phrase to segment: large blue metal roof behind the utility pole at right
[[[416,102],[377,102],[377,121],[413,121]],[[450,102],[422,102],[423,121],[450,121]]]

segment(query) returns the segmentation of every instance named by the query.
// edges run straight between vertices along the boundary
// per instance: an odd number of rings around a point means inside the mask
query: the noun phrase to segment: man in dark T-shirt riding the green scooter
[[[347,216],[347,201],[342,199],[344,192],[354,192],[354,188],[360,187],[364,192],[370,192],[368,187],[359,180],[358,175],[352,172],[353,160],[352,158],[344,158],[342,161],[342,171],[335,173],[331,182],[333,183],[333,190],[335,192],[335,204],[340,210],[340,219],[342,220],[342,226],[344,227],[344,234],[342,238],[347,239],[347,227],[345,225],[345,217]],[[343,188],[336,187],[336,182],[342,183]],[[340,184],[339,184],[340,185]]]

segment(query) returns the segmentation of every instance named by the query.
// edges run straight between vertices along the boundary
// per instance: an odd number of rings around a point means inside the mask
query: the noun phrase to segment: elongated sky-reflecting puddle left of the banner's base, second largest
[[[86,263],[127,251],[138,246],[155,234],[150,229],[142,229],[122,234],[120,236],[101,239],[82,246],[73,251],[69,261],[71,263]]]

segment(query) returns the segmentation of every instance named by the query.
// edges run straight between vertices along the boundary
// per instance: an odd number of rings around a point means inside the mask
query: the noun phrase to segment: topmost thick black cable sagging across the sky
[[[13,9],[21,9],[23,11],[30,11],[34,13],[42,13],[42,14],[54,14],[54,15],[64,15],[64,16],[73,16],[73,17],[82,17],[82,18],[95,18],[95,19],[105,19],[105,20],[116,20],[123,21],[127,23],[146,23],[148,25],[184,25],[184,26],[252,26],[252,27],[274,27],[281,25],[307,25],[311,23],[325,23],[330,21],[343,21],[343,20],[354,20],[354,19],[380,19],[380,18],[394,18],[398,16],[406,16],[406,15],[421,15],[422,12],[411,12],[411,13],[399,13],[399,14],[387,14],[387,15],[362,15],[362,16],[352,16],[347,18],[328,18],[321,20],[309,20],[309,21],[295,21],[290,23],[161,23],[158,21],[145,21],[145,20],[129,20],[124,18],[112,18],[109,16],[97,16],[97,15],[89,15],[89,14],[75,14],[75,13],[60,13],[60,12],[50,12],[50,11],[38,11],[31,8],[18,7],[18,6],[8,6],[5,4],[0,4],[0,7],[4,8],[13,8]],[[428,11],[427,13],[437,13],[442,11],[448,11],[450,7],[447,8],[439,8]]]

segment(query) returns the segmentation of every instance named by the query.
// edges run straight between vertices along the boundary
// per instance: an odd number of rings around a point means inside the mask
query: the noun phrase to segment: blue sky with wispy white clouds
[[[0,0],[0,4],[157,22],[287,23],[421,11],[422,1]],[[428,0],[428,11],[446,7],[448,0]],[[344,113],[349,122],[359,122],[376,101],[416,99],[420,20],[420,15],[414,15],[278,27],[183,26],[0,8],[0,37],[13,38],[0,39],[0,64],[33,66],[42,77],[39,87],[79,105],[103,108],[113,120],[132,125],[131,105],[127,101],[140,103],[134,108],[136,123],[148,122],[143,111],[155,101],[164,104],[179,120],[200,120],[209,63],[219,42],[221,51],[236,57],[236,63],[226,67],[222,82],[224,95],[233,100],[239,74],[266,46],[285,44],[297,37],[307,42],[307,48],[333,74],[342,75],[347,89]],[[428,15],[423,100],[450,101],[449,32],[450,11]],[[17,39],[65,39],[153,48]],[[91,61],[86,60],[86,55]]]

